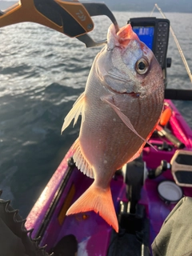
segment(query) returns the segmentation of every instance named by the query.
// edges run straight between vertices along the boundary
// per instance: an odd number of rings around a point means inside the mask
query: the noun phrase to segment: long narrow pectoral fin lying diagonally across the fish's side
[[[139,138],[141,138],[144,142],[146,142],[147,144],[149,144],[150,146],[152,146],[155,149],[155,147],[153,145],[150,144],[150,142],[147,142],[147,140],[145,138],[142,138],[141,135],[138,134],[137,130],[134,129],[134,126],[132,125],[132,123],[130,122],[130,119],[127,118],[127,116],[125,114],[122,113],[122,111],[118,108],[118,106],[115,106],[112,102],[110,102],[110,99],[109,98],[105,98],[105,97],[102,97],[101,98],[103,102],[106,102],[108,103],[112,109],[115,111],[116,114],[118,114],[118,117],[122,119],[122,122],[125,123],[125,125],[130,129],[132,130],[132,132],[136,135],[138,135]]]

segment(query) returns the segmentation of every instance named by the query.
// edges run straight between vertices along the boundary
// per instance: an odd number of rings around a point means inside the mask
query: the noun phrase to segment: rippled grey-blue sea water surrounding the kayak
[[[154,13],[157,16],[158,13]],[[114,12],[120,26],[146,13]],[[157,16],[160,18],[160,14]],[[192,15],[166,13],[192,69]],[[106,38],[110,20],[94,18],[94,39]],[[0,190],[25,218],[78,138],[80,122],[61,135],[63,118],[82,93],[95,55],[76,38],[34,23],[0,29]],[[170,35],[168,87],[192,84]],[[192,102],[175,102],[192,127]]]

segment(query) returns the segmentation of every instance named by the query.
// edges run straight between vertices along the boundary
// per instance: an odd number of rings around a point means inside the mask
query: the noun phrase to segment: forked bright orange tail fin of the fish
[[[94,183],[72,206],[67,210],[66,215],[78,214],[80,212],[94,210],[99,214],[114,230],[118,232],[118,219],[114,210],[110,186],[103,190]]]

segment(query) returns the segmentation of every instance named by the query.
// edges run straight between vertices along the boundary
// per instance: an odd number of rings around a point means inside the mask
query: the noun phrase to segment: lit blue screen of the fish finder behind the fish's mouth
[[[134,26],[134,33],[138,35],[138,38],[146,44],[152,50],[154,41],[154,26]]]

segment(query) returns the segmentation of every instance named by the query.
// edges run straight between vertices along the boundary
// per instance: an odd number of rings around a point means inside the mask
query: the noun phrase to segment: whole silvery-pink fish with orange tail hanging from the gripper
[[[130,24],[116,33],[109,27],[106,46],[97,54],[85,91],[66,115],[62,132],[82,114],[73,158],[94,182],[66,215],[94,210],[118,232],[110,190],[116,170],[138,158],[162,114],[162,68]]]

